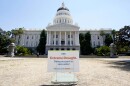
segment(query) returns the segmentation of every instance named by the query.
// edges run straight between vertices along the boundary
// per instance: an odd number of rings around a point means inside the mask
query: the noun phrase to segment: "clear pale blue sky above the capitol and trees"
[[[0,0],[0,28],[45,29],[63,2],[80,30],[130,25],[130,0]]]

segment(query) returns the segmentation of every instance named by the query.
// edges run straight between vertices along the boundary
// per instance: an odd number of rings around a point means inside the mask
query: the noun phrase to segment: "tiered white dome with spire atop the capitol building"
[[[68,8],[64,6],[64,3],[62,3],[62,6],[58,8],[56,16],[54,17],[53,24],[73,24],[72,17],[70,15],[70,11]]]

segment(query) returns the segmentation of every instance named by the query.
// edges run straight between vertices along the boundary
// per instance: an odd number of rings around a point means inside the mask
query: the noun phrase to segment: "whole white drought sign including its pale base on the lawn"
[[[76,83],[79,72],[79,51],[48,51],[48,72],[55,72],[52,83]]]

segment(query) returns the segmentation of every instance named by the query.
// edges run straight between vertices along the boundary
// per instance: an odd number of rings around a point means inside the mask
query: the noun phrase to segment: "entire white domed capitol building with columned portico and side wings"
[[[77,24],[73,24],[69,9],[62,3],[54,17],[53,24],[48,24],[46,27],[46,54],[48,50],[80,50],[79,33],[86,33],[88,31],[91,34],[92,47],[102,46],[104,43],[100,32],[104,31],[111,34],[112,31],[110,28],[102,28],[100,30],[79,29],[80,27]],[[42,29],[24,29],[24,33],[20,36],[19,44],[18,37],[16,38],[16,44],[35,49],[39,44],[41,31]]]

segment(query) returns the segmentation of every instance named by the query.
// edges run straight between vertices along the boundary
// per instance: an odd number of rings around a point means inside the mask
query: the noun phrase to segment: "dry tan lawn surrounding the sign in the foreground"
[[[0,59],[0,86],[51,84],[53,73],[47,72],[47,58],[0,56]],[[80,58],[80,71],[76,73],[77,86],[130,86],[130,63],[117,61],[129,59]]]

